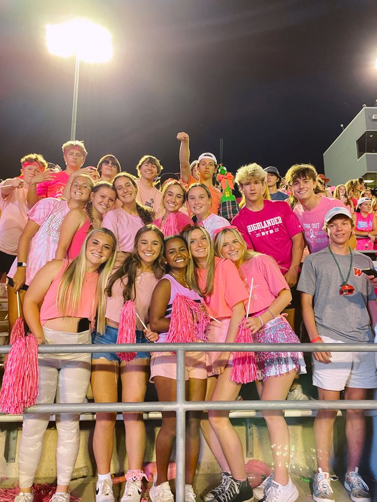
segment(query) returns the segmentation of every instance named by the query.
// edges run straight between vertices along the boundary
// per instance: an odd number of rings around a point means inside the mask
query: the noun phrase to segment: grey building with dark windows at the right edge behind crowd
[[[363,177],[377,185],[377,107],[364,106],[323,154],[331,185]]]

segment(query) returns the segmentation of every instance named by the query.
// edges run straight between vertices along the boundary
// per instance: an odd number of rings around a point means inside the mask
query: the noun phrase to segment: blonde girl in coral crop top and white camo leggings
[[[24,314],[39,344],[91,343],[91,321],[104,322],[104,288],[114,265],[115,237],[107,229],[90,232],[73,261],[52,260],[37,272],[25,295]],[[41,303],[40,312],[38,305]],[[90,354],[39,354],[38,404],[83,403]],[[42,453],[49,413],[24,415],[18,450],[20,493],[32,502],[32,484]],[[69,502],[68,486],[79,447],[79,414],[56,415],[57,488],[50,502]]]

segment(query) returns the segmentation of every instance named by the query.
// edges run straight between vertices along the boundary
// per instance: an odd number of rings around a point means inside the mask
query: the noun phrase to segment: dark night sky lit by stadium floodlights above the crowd
[[[0,3],[1,178],[43,154],[64,166],[74,58],[48,53],[46,24],[85,16],[113,35],[109,63],[81,63],[76,139],[86,165],[107,153],[135,172],[144,154],[179,170],[180,131],[192,160],[219,155],[235,171],[284,173],[323,152],[377,98],[375,0],[8,0]],[[346,180],[344,180],[346,181]]]

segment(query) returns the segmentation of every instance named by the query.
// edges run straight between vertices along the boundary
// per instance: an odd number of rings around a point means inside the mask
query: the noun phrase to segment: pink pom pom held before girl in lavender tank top
[[[176,295],[172,305],[172,317],[166,343],[194,343],[206,341],[210,318],[203,312],[201,303],[184,295]]]

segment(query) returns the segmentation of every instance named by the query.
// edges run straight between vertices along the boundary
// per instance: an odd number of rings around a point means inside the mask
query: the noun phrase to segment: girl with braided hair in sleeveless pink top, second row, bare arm
[[[102,227],[103,216],[113,209],[115,199],[116,191],[110,183],[96,183],[85,209],[71,209],[63,220],[55,258],[76,258],[90,230]]]

